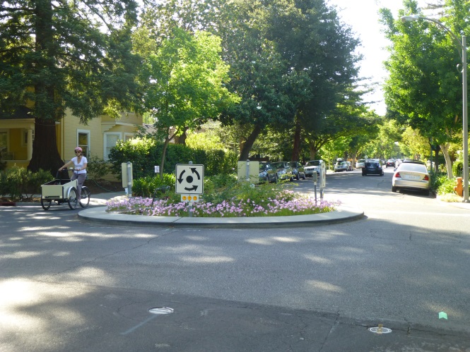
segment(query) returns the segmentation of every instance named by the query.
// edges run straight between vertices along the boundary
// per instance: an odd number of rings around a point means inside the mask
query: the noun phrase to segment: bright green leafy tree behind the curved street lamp
[[[442,23],[454,33],[468,32],[464,18],[469,6],[468,1],[446,1]],[[405,0],[404,7],[400,16],[421,15],[416,0]],[[392,42],[385,65],[389,71],[384,85],[387,116],[420,131],[427,139],[433,138],[440,145],[447,174],[452,177],[448,148],[455,140],[455,131],[462,126],[462,90],[452,62],[461,62],[460,49],[435,23],[401,23],[387,9],[382,9],[381,14],[385,34]]]

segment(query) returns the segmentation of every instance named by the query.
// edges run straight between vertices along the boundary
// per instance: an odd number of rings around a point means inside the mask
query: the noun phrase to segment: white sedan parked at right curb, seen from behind
[[[394,171],[392,192],[400,189],[422,190],[425,195],[429,195],[430,184],[428,169],[423,162],[404,160]]]

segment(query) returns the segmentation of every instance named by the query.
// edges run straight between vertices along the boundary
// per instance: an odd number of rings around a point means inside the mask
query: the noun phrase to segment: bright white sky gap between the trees
[[[363,54],[363,61],[360,63],[360,77],[370,77],[372,82],[380,85],[387,77],[387,71],[383,68],[383,61],[388,58],[385,49],[389,42],[382,32],[383,27],[379,23],[379,9],[389,8],[394,17],[398,18],[398,10],[403,8],[401,0],[327,0],[327,5],[336,6],[343,23],[350,25],[356,37],[362,42],[358,48]],[[424,1],[418,1],[424,6]],[[384,115],[386,106],[383,92],[380,87],[370,95],[365,96],[365,101],[377,101],[370,107],[375,109],[377,114]]]

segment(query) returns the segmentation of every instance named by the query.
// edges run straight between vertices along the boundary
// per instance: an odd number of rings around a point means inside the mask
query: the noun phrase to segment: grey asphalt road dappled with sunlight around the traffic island
[[[311,228],[0,209],[0,351],[470,351],[470,210],[391,179],[329,174],[324,198],[366,217]]]

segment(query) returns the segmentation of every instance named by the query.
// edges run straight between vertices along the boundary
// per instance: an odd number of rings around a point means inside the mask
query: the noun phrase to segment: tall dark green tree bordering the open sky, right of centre
[[[307,73],[310,80],[306,94],[295,101],[293,158],[298,157],[303,135],[310,145],[310,157],[315,159],[325,142],[351,135],[358,119],[351,123],[347,119],[364,112],[356,107],[363,92],[354,86],[360,60],[354,51],[359,41],[323,0],[279,0],[270,4],[266,10],[266,37],[278,43],[291,68]]]

